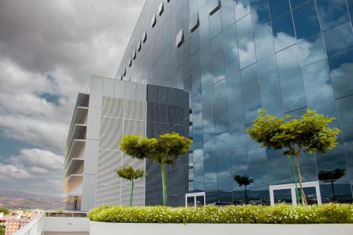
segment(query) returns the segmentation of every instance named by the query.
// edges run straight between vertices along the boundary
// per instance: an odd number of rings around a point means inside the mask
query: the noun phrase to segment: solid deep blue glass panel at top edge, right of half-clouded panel
[[[293,9],[293,19],[297,39],[308,38],[321,31],[314,1],[308,1]]]

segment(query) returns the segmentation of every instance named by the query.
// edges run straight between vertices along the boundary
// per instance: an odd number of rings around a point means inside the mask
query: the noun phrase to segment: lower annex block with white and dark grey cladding
[[[87,211],[96,205],[128,205],[131,185],[115,169],[125,164],[147,171],[135,182],[133,205],[162,201],[160,167],[120,152],[122,135],[157,137],[166,132],[189,136],[189,95],[179,89],[92,76],[79,93],[64,150],[66,210]],[[184,202],[187,157],[168,167],[168,201]]]

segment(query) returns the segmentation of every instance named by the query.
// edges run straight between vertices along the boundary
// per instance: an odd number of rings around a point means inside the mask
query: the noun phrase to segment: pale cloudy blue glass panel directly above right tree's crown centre
[[[280,76],[284,112],[306,107],[301,69]]]

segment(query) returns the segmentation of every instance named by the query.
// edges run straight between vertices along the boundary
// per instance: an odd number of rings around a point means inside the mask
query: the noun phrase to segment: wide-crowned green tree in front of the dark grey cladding
[[[143,138],[141,135],[124,135],[120,142],[122,152],[133,158],[148,158],[160,164],[162,171],[163,205],[167,205],[166,164],[174,164],[180,156],[189,152],[192,140],[179,133],[166,133],[159,138]]]

